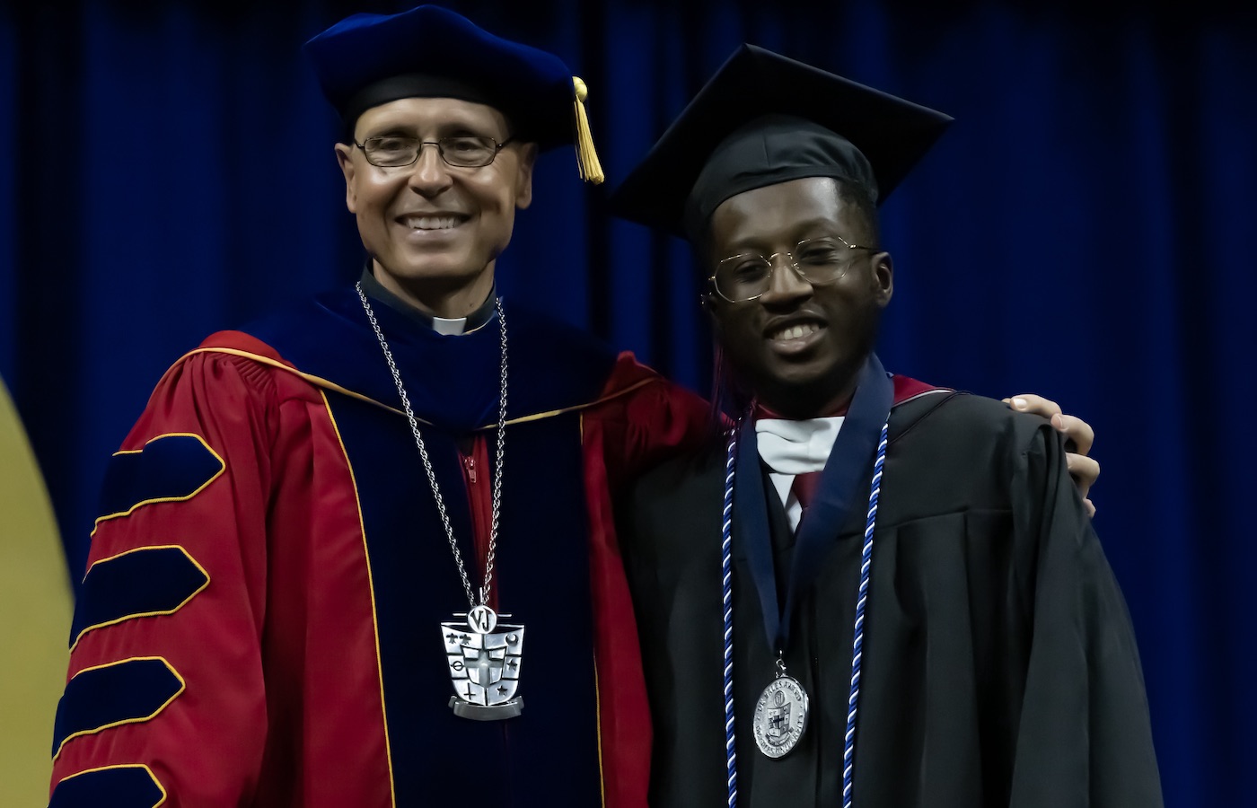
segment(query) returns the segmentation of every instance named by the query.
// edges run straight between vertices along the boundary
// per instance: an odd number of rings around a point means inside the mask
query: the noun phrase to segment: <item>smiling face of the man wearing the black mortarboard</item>
[[[789,253],[804,239],[871,244],[870,231],[859,206],[840,197],[836,180],[769,185],[716,207],[709,269],[730,255]],[[734,372],[758,400],[787,417],[808,418],[851,396],[891,292],[890,255],[856,250],[835,283],[812,287],[778,258],[772,284],[758,299],[730,303],[710,294],[708,308]]]

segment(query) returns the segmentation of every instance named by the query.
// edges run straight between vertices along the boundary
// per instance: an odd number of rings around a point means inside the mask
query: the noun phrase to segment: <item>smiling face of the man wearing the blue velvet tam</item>
[[[381,134],[422,141],[473,134],[504,142],[505,116],[455,98],[402,98],[362,113],[358,143]],[[439,317],[464,317],[488,297],[498,255],[510,241],[515,209],[532,201],[532,143],[512,142],[488,166],[447,165],[425,146],[410,166],[381,168],[362,150],[337,143],[346,205],[380,283]]]

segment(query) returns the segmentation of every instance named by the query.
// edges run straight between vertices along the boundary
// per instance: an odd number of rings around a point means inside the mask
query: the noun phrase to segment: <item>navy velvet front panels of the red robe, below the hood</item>
[[[447,706],[440,626],[468,599],[410,430],[378,407],[329,400],[362,505],[397,804],[473,794],[494,805],[534,804],[529,795],[539,794],[548,804],[600,804],[579,413],[508,427],[494,588],[500,609],[525,626],[525,706],[508,721],[471,721]],[[475,587],[483,571],[455,436],[425,429],[424,440]]]

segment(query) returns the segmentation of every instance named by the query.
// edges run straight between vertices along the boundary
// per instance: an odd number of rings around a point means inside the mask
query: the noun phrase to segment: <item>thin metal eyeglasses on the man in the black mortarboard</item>
[[[778,255],[786,256],[786,265],[799,278],[813,287],[821,287],[837,283],[847,274],[851,261],[856,259],[852,250],[876,249],[850,244],[841,236],[804,239],[789,253],[730,255],[715,265],[715,273],[708,280],[722,298],[729,303],[742,303],[768,292],[773,279],[773,260]]]

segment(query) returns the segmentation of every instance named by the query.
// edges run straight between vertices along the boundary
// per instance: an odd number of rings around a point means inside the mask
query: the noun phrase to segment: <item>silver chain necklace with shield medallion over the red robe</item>
[[[441,635],[455,692],[455,696],[450,699],[450,707],[455,715],[476,720],[513,718],[519,715],[524,706],[523,699],[515,696],[523,662],[524,627],[522,623],[499,623],[498,614],[489,606],[489,597],[493,592],[493,562],[498,549],[502,469],[507,446],[507,315],[502,310],[502,298],[495,300],[498,325],[502,333],[502,374],[498,393],[498,451],[493,471],[493,518],[489,528],[489,552],[484,559],[484,579],[480,586],[480,597],[476,598],[471,591],[471,579],[468,577],[466,565],[463,563],[463,553],[459,552],[458,542],[454,539],[454,527],[445,511],[445,500],[441,496],[440,485],[436,483],[432,461],[427,456],[427,447],[419,432],[419,421],[410,406],[410,396],[406,395],[406,386],[402,385],[397,363],[393,361],[392,351],[388,349],[388,341],[385,339],[380,323],[376,320],[376,313],[371,309],[371,303],[362,290],[362,281],[358,281],[354,289],[362,302],[362,309],[367,313],[367,319],[371,320],[371,328],[376,332],[376,339],[380,341],[385,361],[388,362],[388,371],[392,373],[393,385],[397,386],[397,395],[406,411],[406,420],[410,422],[410,432],[415,436],[415,446],[419,447],[419,456],[427,472],[427,484],[432,489],[436,510],[441,515],[441,524],[445,525],[445,537],[454,553],[454,563],[458,564],[459,576],[463,578],[463,591],[468,596],[469,611],[454,614],[464,620],[441,623]],[[502,617],[510,617],[510,614],[502,614]],[[494,631],[495,628],[500,631]]]

